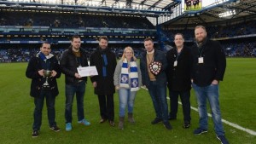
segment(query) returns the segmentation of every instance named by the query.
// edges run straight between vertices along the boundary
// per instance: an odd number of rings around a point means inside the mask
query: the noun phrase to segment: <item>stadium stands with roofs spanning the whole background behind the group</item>
[[[217,0],[201,10],[184,12],[176,0],[141,3],[143,8],[136,6],[136,0],[126,1],[123,8],[116,0],[100,6],[79,2],[0,1],[0,62],[28,61],[44,41],[52,43],[60,57],[73,35],[81,37],[88,55],[96,48],[97,37],[106,35],[117,58],[127,45],[136,49],[138,57],[145,37],[152,37],[164,51],[172,49],[177,32],[184,34],[185,44],[194,44],[196,25],[206,26],[207,36],[222,43],[227,56],[256,56],[256,10],[250,6],[254,0]],[[218,15],[229,8],[237,9],[231,20]]]

